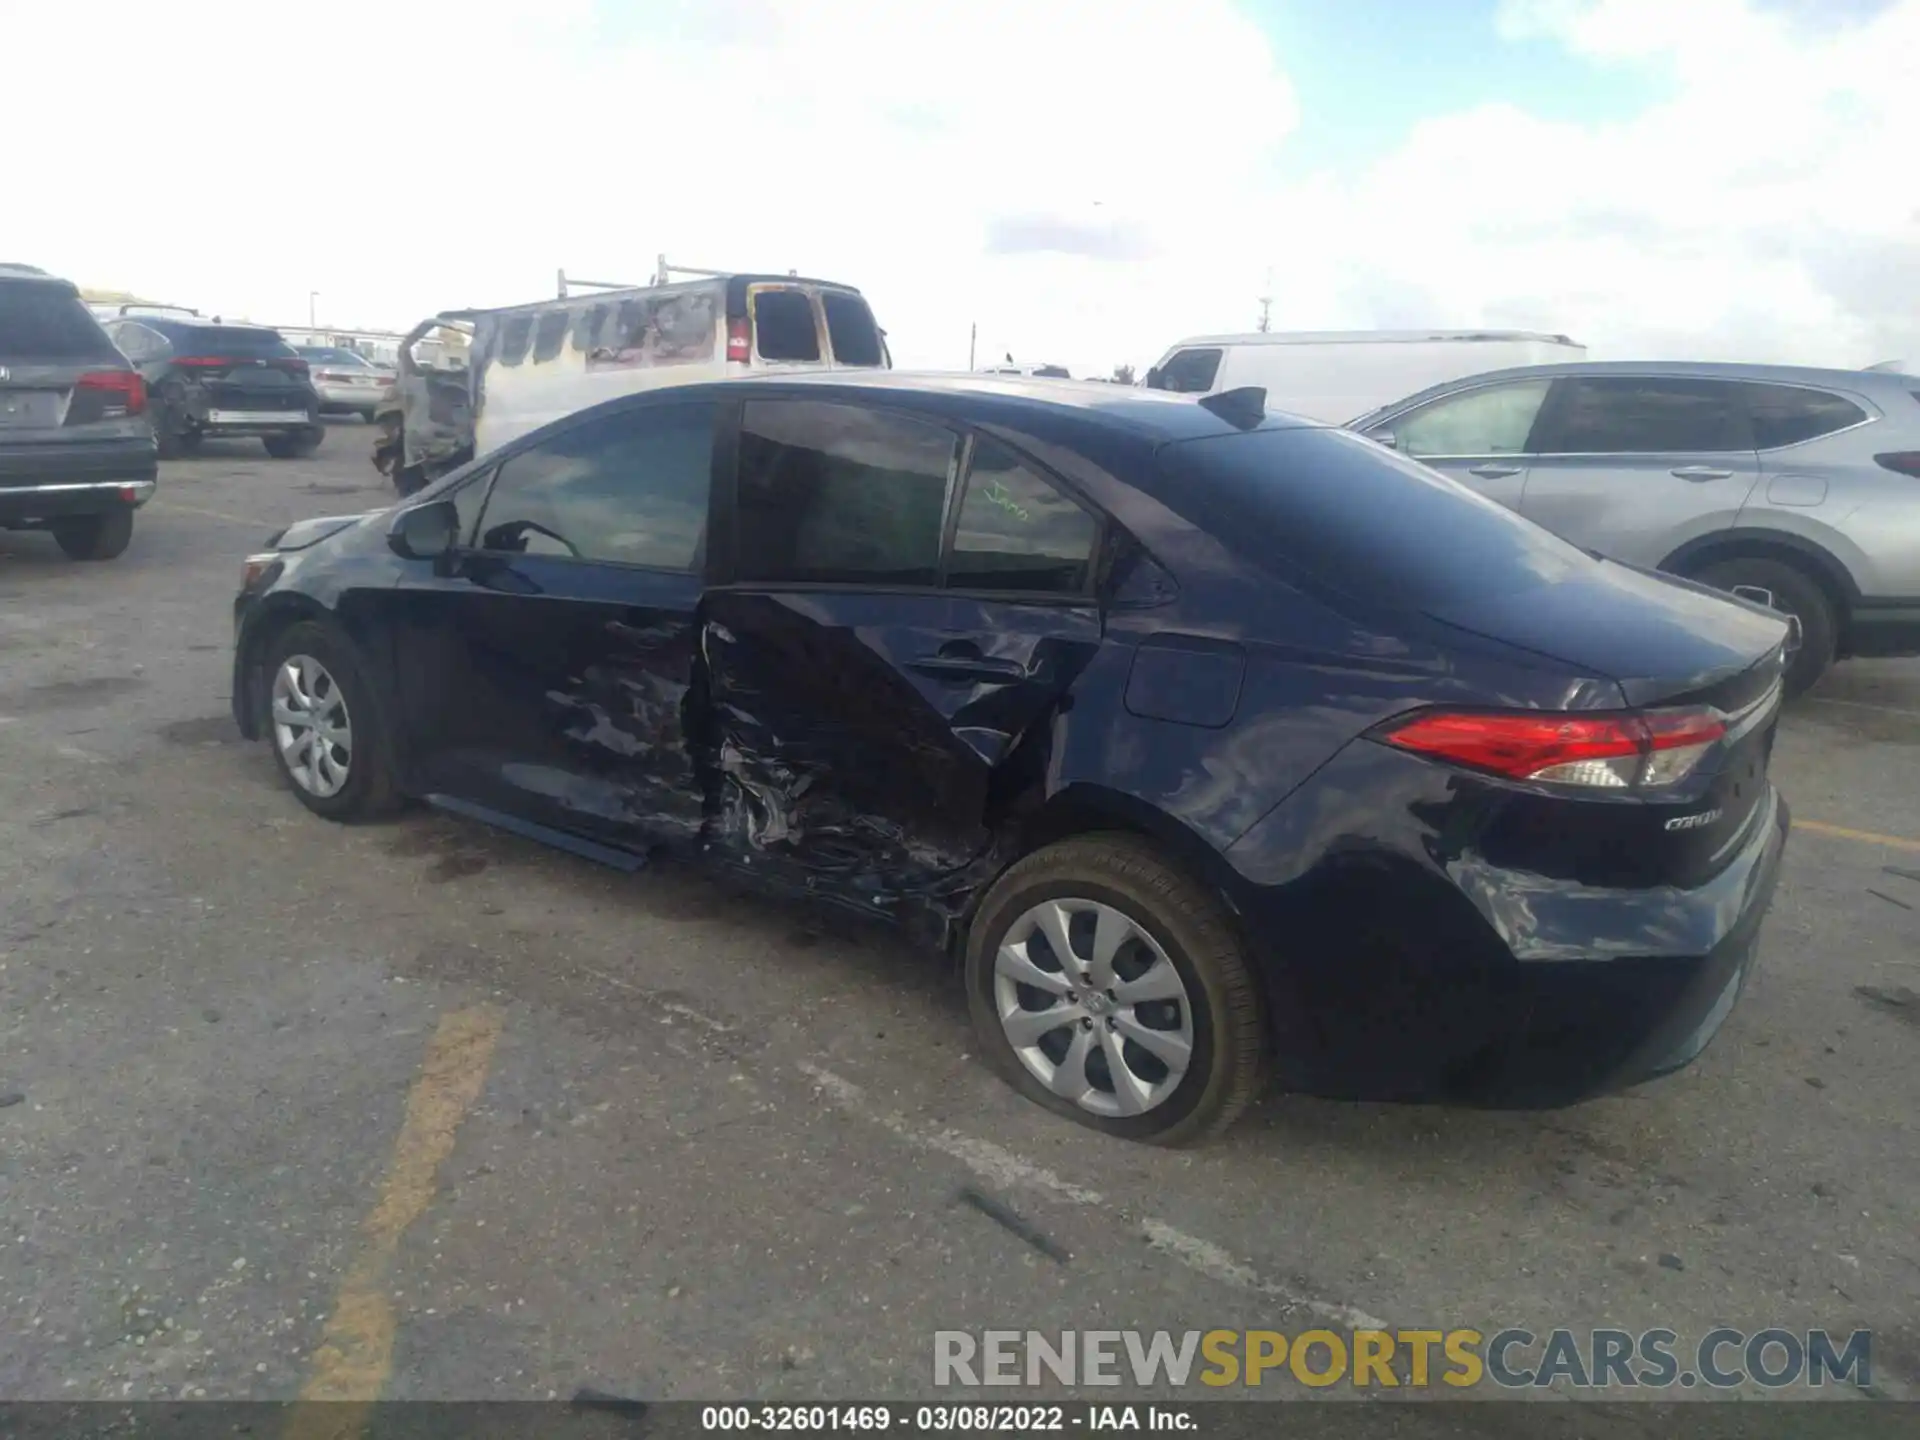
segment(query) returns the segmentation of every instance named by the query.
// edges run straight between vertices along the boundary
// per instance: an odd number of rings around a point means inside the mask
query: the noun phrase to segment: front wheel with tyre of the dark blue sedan
[[[273,639],[263,659],[265,732],[300,803],[328,820],[397,808],[380,712],[348,641],[301,620]]]

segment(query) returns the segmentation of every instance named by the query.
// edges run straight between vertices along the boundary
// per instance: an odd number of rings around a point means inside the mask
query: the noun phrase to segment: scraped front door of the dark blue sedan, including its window
[[[714,419],[634,405],[507,449],[470,540],[401,582],[405,726],[436,793],[628,849],[699,837]]]

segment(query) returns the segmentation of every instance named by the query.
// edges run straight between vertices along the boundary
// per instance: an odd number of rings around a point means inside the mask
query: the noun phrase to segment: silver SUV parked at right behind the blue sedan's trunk
[[[1920,378],[1536,365],[1352,420],[1576,545],[1799,618],[1788,689],[1920,655]]]

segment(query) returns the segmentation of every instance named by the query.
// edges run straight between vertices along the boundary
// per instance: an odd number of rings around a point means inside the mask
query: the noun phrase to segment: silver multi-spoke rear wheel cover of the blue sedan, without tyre
[[[1094,1116],[1144,1116],[1192,1064],[1181,972],[1144,927],[1098,900],[1041,900],[1008,927],[993,1008],[1020,1064]]]

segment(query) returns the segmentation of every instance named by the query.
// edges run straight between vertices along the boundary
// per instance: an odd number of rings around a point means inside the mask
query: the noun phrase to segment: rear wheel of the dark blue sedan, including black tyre
[[[995,1069],[1108,1135],[1206,1140],[1260,1091],[1265,1006],[1233,924],[1131,835],[1060,841],[1000,876],[966,985]]]

